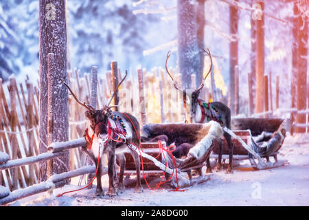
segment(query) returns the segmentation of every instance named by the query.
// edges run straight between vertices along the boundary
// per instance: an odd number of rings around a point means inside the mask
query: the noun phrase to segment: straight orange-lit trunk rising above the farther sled
[[[264,3],[259,1],[261,10],[264,10]],[[256,20],[256,90],[255,90],[255,113],[264,111],[264,14]]]

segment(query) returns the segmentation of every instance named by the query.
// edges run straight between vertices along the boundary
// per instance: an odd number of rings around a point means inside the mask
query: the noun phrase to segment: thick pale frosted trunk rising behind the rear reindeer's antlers
[[[196,1],[177,0],[178,56],[183,89],[191,87],[191,74],[199,72],[201,62],[198,52],[195,3]]]

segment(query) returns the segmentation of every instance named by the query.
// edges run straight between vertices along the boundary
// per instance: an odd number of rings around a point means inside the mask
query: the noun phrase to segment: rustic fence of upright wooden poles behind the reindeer
[[[100,72],[100,68],[93,67],[91,73],[85,73],[84,76],[81,76],[78,69],[70,70],[68,82],[74,94],[82,102],[95,104],[96,109],[102,109],[111,94],[110,91],[113,89],[112,82],[119,82],[124,74],[117,68],[117,63],[113,63],[110,72],[103,74],[98,74],[98,72]],[[170,68],[170,72],[181,86],[181,74],[177,74],[173,68]],[[93,90],[91,85],[94,75],[98,80],[96,91]],[[248,77],[249,109],[253,112],[251,105],[253,97],[250,90],[252,82],[249,74]],[[213,80],[213,78],[211,79]],[[269,85],[267,83],[268,78],[265,77],[264,79],[265,85]],[[195,88],[195,82],[195,75],[192,74],[192,88]],[[278,76],[276,76],[276,82],[275,107],[272,104],[272,87],[267,86],[269,92],[264,94],[267,97],[265,106],[268,106],[269,100],[270,109],[266,109],[265,113],[255,114],[255,117],[279,116],[279,112],[284,112],[284,109],[279,109]],[[92,91],[97,94],[96,100],[91,100]],[[239,92],[239,89],[236,91]],[[126,80],[119,88],[118,96],[119,103],[116,103],[119,104],[118,110],[133,113],[141,125],[146,122],[184,122],[185,120],[182,94],[174,89],[172,80],[161,68],[154,68],[149,72],[146,72],[146,69],[138,68],[136,72],[129,72]],[[224,97],[212,82],[210,89],[203,88],[200,98],[221,100]],[[296,113],[309,113],[308,109],[305,112],[299,112],[295,109],[289,111],[293,111],[294,115]],[[77,104],[72,96],[69,96],[69,139],[81,138],[86,123],[84,108]],[[294,126],[306,127],[308,124],[294,124]],[[38,156],[38,139],[38,82],[33,82],[27,76],[25,82],[17,85],[14,75],[12,75],[8,86],[5,88],[0,78],[0,151],[10,155],[10,159]],[[86,164],[86,155],[80,151],[80,148],[71,148],[69,151],[72,170],[81,168]],[[10,190],[25,188],[32,184],[38,184],[38,177],[38,164],[18,166],[0,172],[0,185],[8,186]]]

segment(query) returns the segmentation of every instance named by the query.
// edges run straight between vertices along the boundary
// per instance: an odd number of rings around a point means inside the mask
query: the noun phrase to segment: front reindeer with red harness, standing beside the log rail
[[[89,120],[87,123],[87,129],[85,136],[87,141],[86,153],[93,159],[95,166],[98,168],[97,173],[97,188],[95,191],[96,195],[103,196],[104,192],[102,189],[101,177],[102,177],[102,160],[101,156],[103,153],[106,153],[108,160],[108,179],[109,187],[107,195],[113,197],[117,195],[116,187],[123,188],[123,177],[124,177],[124,165],[126,159],[122,154],[127,148],[130,149],[130,153],[133,155],[135,161],[135,167],[137,172],[137,184],[135,186],[135,192],[141,192],[141,180],[140,180],[140,162],[139,155],[135,151],[136,147],[139,147],[139,122],[137,119],[130,115],[129,113],[121,113],[118,111],[111,111],[112,107],[110,106],[111,100],[113,100],[117,90],[127,76],[121,80],[117,85],[116,91],[111,94],[111,98],[106,101],[103,109],[95,110],[90,104],[85,104],[76,98],[73,91],[65,83],[65,80],[62,80],[62,83],[69,89],[73,98],[87,109],[84,115]],[[99,160],[100,154],[100,160]],[[117,175],[115,172],[115,157],[120,165],[120,175],[119,183],[117,184]]]

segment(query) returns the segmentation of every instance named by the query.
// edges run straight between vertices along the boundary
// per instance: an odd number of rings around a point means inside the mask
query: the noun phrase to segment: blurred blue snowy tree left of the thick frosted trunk
[[[37,72],[38,1],[0,2],[0,72],[3,78],[30,67]]]

